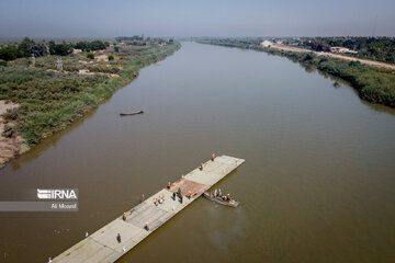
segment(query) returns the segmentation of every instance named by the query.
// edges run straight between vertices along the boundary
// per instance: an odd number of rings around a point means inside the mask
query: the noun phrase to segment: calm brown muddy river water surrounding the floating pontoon
[[[0,213],[0,262],[47,262],[196,168],[246,159],[120,262],[395,262],[395,111],[264,53],[183,43],[0,170],[1,201],[79,190],[78,213]],[[120,117],[120,112],[144,115]]]

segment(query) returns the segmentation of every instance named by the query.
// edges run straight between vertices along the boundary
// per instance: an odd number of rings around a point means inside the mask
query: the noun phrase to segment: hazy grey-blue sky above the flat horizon
[[[0,37],[395,36],[395,0],[0,0]]]

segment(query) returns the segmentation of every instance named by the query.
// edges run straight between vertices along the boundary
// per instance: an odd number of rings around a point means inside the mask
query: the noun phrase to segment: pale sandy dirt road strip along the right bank
[[[374,61],[374,60],[369,60],[369,59],[349,57],[349,56],[341,55],[341,54],[324,53],[324,52],[320,52],[320,53],[319,52],[312,52],[312,50],[306,49],[306,48],[292,47],[292,46],[285,46],[285,45],[279,45],[279,44],[273,44],[271,46],[271,48],[281,49],[281,50],[287,50],[287,52],[296,52],[296,53],[314,53],[317,56],[340,58],[340,59],[350,60],[350,61],[360,61],[363,65],[369,65],[369,66],[376,67],[376,68],[386,68],[386,69],[395,70],[395,65]]]

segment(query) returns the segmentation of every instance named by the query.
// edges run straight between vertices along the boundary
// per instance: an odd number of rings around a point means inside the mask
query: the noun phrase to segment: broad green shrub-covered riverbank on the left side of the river
[[[0,167],[31,149],[43,138],[65,129],[138,76],[140,68],[165,59],[179,43],[156,46],[123,45],[87,54],[21,58],[0,67],[0,100],[4,105],[0,144]],[[111,57],[111,59],[102,59]],[[12,146],[12,147],[11,147]],[[11,149],[11,148],[12,149]]]

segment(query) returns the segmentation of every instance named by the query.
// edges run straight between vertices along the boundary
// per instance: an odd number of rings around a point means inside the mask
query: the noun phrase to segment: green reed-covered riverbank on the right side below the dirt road
[[[278,46],[275,48],[263,47],[260,43],[253,41],[248,43],[246,41],[240,42],[227,38],[203,39],[199,41],[199,43],[253,49],[271,55],[283,56],[303,66],[313,66],[323,72],[349,81],[362,100],[395,107],[395,75],[394,71],[387,67],[372,67],[372,65],[362,64],[359,61],[360,59],[345,59],[343,56],[336,57],[335,55],[326,56],[325,54],[313,53],[307,49],[291,50],[279,48]],[[377,65],[382,64],[376,62],[375,66]]]

